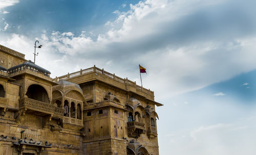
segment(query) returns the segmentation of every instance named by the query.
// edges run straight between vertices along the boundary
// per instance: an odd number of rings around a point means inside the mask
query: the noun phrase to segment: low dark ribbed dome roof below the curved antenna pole
[[[46,76],[50,76],[50,74],[51,74],[51,72],[47,71],[44,68],[39,67],[39,65],[34,64],[31,60],[26,61],[26,62],[24,62],[22,64],[15,65],[14,67],[8,69],[8,72],[15,72],[16,69],[22,68],[22,67],[24,67],[24,68],[31,68],[31,70],[35,69],[38,72],[41,72],[41,73],[43,73]]]

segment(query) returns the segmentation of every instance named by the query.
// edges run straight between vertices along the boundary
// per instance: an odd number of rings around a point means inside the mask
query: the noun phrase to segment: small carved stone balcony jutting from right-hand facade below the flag
[[[144,133],[145,123],[141,122],[127,122],[127,131],[129,137],[138,138]]]

